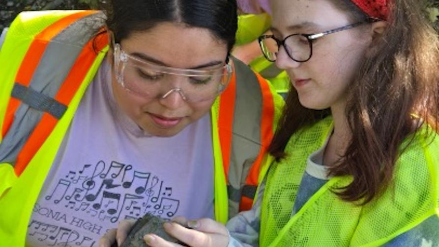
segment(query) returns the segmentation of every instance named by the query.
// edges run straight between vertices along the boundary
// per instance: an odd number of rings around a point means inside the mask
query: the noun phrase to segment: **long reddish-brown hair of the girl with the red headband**
[[[350,13],[353,22],[364,18],[350,0],[331,2]],[[422,2],[389,1],[386,30],[349,86],[346,116],[351,141],[337,165],[329,168],[330,175],[353,177],[350,185],[334,190],[344,200],[364,199],[365,204],[379,196],[392,178],[396,160],[410,145],[401,147],[403,140],[423,123],[430,126],[430,134],[438,132],[439,38]],[[269,152],[277,160],[285,157],[293,133],[329,114],[328,109],[303,107],[291,90]]]

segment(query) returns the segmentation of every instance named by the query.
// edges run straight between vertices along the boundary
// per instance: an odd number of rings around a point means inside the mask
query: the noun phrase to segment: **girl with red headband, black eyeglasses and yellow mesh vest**
[[[271,0],[271,9],[261,48],[293,89],[258,199],[228,230],[182,218],[194,229],[165,229],[189,246],[437,245],[439,41],[421,1]]]

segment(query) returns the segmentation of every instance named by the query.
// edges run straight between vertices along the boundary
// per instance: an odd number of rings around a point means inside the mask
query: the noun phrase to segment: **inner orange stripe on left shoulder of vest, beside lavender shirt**
[[[107,33],[97,36],[96,39],[91,39],[88,41],[87,45],[82,49],[81,53],[76,59],[72,69],[70,70],[70,73],[62,83],[54,99],[58,100],[64,105],[68,105],[70,103],[71,99],[77,92],[79,86],[88,73],[88,69],[91,67],[97,56],[97,52],[94,51],[93,45],[95,45],[98,50],[101,50],[107,44]],[[54,118],[49,113],[43,113],[40,122],[35,126],[34,130],[29,136],[28,141],[18,153],[14,166],[14,171],[17,176],[20,176],[20,174],[26,169],[32,157],[54,129],[56,123],[58,123],[58,119]]]

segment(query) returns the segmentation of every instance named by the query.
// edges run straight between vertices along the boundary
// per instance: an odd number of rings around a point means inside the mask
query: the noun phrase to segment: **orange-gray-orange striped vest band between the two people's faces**
[[[268,82],[232,59],[235,78],[220,97],[218,117],[229,217],[252,205],[263,154],[273,136],[277,106]]]

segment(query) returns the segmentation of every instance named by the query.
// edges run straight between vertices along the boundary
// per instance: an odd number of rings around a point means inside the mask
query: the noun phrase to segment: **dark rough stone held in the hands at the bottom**
[[[179,243],[175,238],[168,235],[165,229],[163,229],[164,222],[166,222],[166,220],[163,220],[160,217],[146,214],[133,225],[133,228],[128,233],[128,236],[121,247],[147,247],[143,240],[143,236],[148,233],[154,233],[167,241]]]

